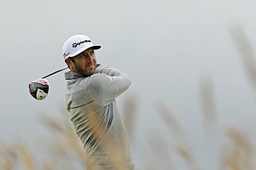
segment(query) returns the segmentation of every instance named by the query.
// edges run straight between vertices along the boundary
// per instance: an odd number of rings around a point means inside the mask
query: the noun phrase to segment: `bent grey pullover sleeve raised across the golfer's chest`
[[[107,66],[98,66],[96,74],[90,76],[87,84],[91,99],[105,106],[131,85],[130,77],[125,73]]]

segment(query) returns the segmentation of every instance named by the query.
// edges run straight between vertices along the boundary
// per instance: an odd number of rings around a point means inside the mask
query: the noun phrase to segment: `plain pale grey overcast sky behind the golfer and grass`
[[[0,140],[19,136],[37,144],[46,133],[38,114],[67,114],[63,72],[48,78],[43,101],[33,99],[27,85],[66,66],[63,42],[85,34],[102,45],[96,51],[99,63],[131,77],[131,88],[118,102],[121,110],[125,98],[137,101],[136,159],[147,141],[144,134],[166,133],[154,109],[162,101],[188,132],[201,167],[214,169],[203,139],[201,80],[212,82],[220,127],[241,128],[255,140],[255,95],[230,36],[230,28],[239,25],[256,47],[255,6],[253,0],[4,1]]]

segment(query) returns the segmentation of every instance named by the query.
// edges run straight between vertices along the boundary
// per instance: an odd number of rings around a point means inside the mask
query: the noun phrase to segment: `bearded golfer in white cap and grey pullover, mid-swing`
[[[89,37],[75,35],[64,43],[62,54],[70,71],[67,111],[84,144],[88,170],[131,170],[134,161],[115,98],[131,85],[125,73],[96,63]]]

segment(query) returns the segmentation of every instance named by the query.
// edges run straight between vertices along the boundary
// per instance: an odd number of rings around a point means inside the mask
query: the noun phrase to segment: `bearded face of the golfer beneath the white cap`
[[[93,48],[88,48],[71,59],[73,69],[71,71],[82,75],[91,75],[96,70],[96,55]]]

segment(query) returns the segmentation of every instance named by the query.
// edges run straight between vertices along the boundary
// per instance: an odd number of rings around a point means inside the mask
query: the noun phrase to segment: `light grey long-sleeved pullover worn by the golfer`
[[[116,169],[111,159],[117,150],[124,158],[119,166],[134,169],[131,144],[115,101],[131,85],[130,77],[99,65],[89,77],[69,71],[65,78],[67,111],[87,158],[93,160],[98,169]]]

